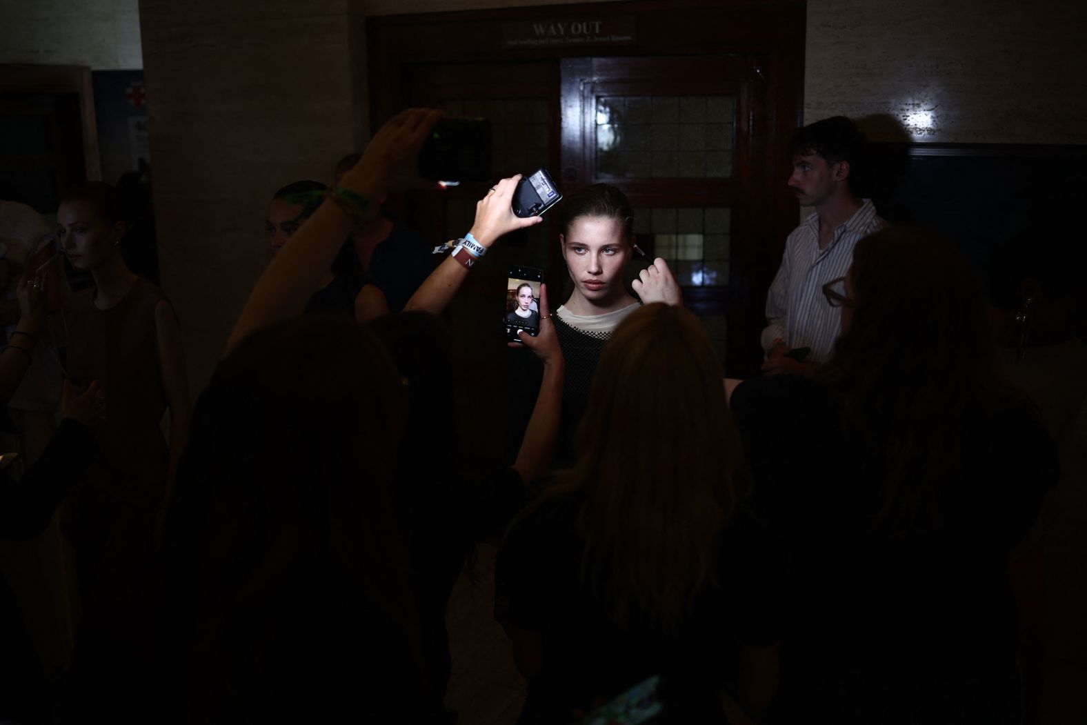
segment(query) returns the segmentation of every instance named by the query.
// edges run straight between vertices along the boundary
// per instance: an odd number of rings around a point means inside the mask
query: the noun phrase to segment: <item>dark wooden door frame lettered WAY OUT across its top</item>
[[[629,42],[580,42],[569,47],[520,47],[511,28],[532,23],[621,22]],[[786,149],[802,122],[807,2],[804,0],[628,0],[572,5],[472,10],[366,18],[371,127],[410,101],[410,67],[420,63],[516,62],[564,58],[707,55],[742,53],[764,65],[767,172],[752,189],[752,234],[733,242],[730,258],[747,271],[732,299],[742,300],[742,339],[728,335],[728,357],[739,363],[730,374],[755,375],[761,359],[758,335],[765,290],[780,263],[785,239],[799,217],[788,192]],[[560,109],[565,114],[566,109]],[[560,118],[555,118],[560,121]],[[565,122],[565,117],[561,118]],[[698,303],[698,296],[690,302]],[[748,339],[750,338],[750,339]]]

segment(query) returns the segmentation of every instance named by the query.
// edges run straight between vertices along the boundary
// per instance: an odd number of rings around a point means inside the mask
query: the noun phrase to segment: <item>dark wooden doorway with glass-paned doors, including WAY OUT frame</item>
[[[800,122],[804,21],[797,1],[370,18],[372,127],[408,105],[486,116],[496,178],[542,165],[564,192],[620,187],[639,245],[676,271],[724,371],[755,375],[766,288],[798,220],[785,147]],[[454,238],[488,186],[413,195],[393,209],[429,238]],[[455,354],[476,382],[493,382],[472,401],[476,421],[504,420],[505,350],[486,321],[501,316],[507,267],[541,266],[553,304],[564,299],[554,224],[497,246],[452,311]]]

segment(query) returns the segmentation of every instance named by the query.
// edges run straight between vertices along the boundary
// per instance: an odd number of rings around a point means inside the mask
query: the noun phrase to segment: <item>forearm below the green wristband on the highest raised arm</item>
[[[364,199],[376,198],[376,189],[358,192]],[[250,333],[302,313],[353,225],[351,216],[327,199],[313,212],[257,282],[230,334],[227,353]]]

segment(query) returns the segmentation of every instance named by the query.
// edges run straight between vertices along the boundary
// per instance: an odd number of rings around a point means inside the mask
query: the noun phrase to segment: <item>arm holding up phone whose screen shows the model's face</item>
[[[533,337],[525,330],[520,330],[517,337],[521,338],[521,343],[544,361],[544,379],[536,396],[536,407],[528,420],[525,437],[521,441],[517,460],[513,463],[513,468],[521,474],[521,479],[529,483],[541,477],[551,465],[554,441],[559,436],[559,418],[562,414],[565,364],[562,359],[562,348],[559,347],[559,336],[551,323],[547,285],[540,285],[539,334]],[[510,347],[518,347],[521,343],[510,342]]]

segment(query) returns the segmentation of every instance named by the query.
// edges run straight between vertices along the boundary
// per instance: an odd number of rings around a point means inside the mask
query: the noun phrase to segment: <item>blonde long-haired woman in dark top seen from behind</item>
[[[772,695],[784,565],[740,510],[719,370],[679,307],[630,313],[604,346],[577,462],[497,564],[499,620],[528,679],[522,723],[570,722],[654,675],[675,722],[723,722],[728,674],[757,708]]]

